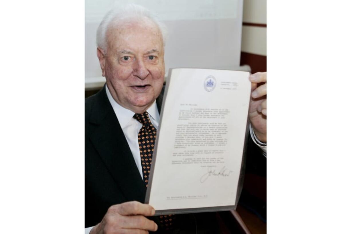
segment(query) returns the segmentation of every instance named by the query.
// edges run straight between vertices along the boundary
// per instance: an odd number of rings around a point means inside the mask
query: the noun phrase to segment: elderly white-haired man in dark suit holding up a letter
[[[98,28],[97,56],[106,85],[85,106],[87,233],[218,233],[214,213],[171,216],[174,224],[165,217],[146,217],[155,210],[143,204],[147,181],[138,145],[143,123],[137,116],[146,116],[157,130],[165,75],[163,28],[135,5],[107,13]],[[265,142],[266,85],[257,84],[266,82],[266,75],[250,80],[251,134]]]

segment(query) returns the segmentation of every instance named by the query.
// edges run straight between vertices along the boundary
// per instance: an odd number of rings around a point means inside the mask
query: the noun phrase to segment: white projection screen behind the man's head
[[[103,79],[96,56],[96,30],[114,5],[145,6],[168,28],[169,68],[235,69],[240,63],[243,0],[86,0],[85,80]]]

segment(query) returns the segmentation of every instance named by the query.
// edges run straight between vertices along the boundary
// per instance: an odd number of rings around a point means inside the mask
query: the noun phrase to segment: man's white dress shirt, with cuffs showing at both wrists
[[[118,122],[121,125],[123,134],[127,139],[129,148],[132,151],[132,155],[134,157],[135,164],[137,165],[137,168],[139,170],[140,176],[143,179],[143,171],[141,168],[141,158],[140,158],[139,143],[138,143],[139,130],[141,129],[143,124],[141,124],[139,121],[137,121],[136,119],[133,118],[133,116],[135,114],[133,111],[128,110],[128,109],[120,106],[113,99],[107,86],[106,86],[106,94],[107,94],[108,100],[110,101],[110,103],[112,105],[113,111],[118,119]],[[158,130],[158,125],[160,122],[160,114],[159,114],[158,109],[157,109],[156,100],[152,103],[152,105],[146,111],[150,117],[151,123]],[[251,135],[253,142],[256,143],[263,150],[263,155],[266,157],[266,146],[262,146],[262,143],[259,142],[257,137],[254,135],[251,124],[250,124],[250,135]],[[93,227],[85,228],[85,234],[89,234],[90,230]]]

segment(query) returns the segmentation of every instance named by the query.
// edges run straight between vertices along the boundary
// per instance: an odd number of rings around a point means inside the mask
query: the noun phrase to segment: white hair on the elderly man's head
[[[166,42],[167,28],[163,22],[159,21],[157,17],[152,15],[152,13],[145,7],[128,4],[125,7],[115,7],[111,11],[107,12],[105,17],[102,19],[97,33],[96,33],[96,44],[99,48],[106,52],[107,40],[106,32],[112,25],[115,26],[118,22],[128,19],[128,20],[145,20],[145,18],[150,19],[154,22],[162,34],[163,45]]]

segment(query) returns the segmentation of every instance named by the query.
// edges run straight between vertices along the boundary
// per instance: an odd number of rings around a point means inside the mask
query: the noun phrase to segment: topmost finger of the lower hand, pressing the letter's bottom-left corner
[[[155,209],[148,204],[143,204],[137,201],[131,201],[117,205],[117,212],[120,215],[152,216],[155,214]]]

